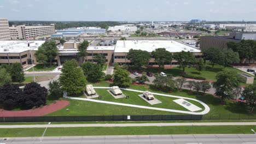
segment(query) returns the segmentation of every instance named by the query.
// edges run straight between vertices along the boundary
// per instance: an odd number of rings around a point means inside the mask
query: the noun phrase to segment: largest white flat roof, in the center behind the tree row
[[[129,52],[130,49],[152,52],[158,48],[165,48],[170,52],[201,52],[194,47],[174,40],[118,40],[115,46],[115,52]]]

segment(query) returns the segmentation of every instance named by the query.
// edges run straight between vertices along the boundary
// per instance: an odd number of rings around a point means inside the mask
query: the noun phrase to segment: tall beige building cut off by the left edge
[[[0,17],[0,40],[10,40],[9,22],[7,18]]]

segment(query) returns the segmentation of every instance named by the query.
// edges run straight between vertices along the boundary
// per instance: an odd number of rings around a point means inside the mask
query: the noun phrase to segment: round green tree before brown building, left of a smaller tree
[[[222,50],[218,47],[210,47],[209,49],[203,49],[203,57],[205,61],[210,61],[212,68],[215,64],[223,65],[224,55]]]

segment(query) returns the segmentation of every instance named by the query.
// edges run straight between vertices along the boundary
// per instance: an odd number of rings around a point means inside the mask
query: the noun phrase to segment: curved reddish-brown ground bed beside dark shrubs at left
[[[45,105],[43,107],[38,107],[34,110],[23,110],[23,111],[6,111],[0,109],[0,117],[36,117],[43,116],[49,113],[55,112],[57,110],[63,109],[63,107],[69,105],[67,100],[58,100],[56,103]]]

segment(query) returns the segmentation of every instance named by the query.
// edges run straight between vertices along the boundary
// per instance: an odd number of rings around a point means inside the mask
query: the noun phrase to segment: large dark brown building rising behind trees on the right
[[[256,33],[230,33],[229,36],[203,36],[200,37],[200,49],[209,49],[210,47],[219,47],[222,50],[228,48],[226,43],[234,41],[239,43],[242,39],[256,40]]]

